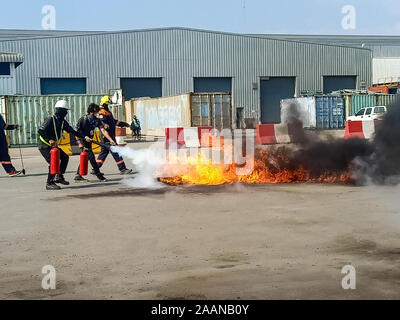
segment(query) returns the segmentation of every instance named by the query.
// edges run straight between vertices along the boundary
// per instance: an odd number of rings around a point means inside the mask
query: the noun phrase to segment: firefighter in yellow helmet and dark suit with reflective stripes
[[[129,123],[119,121],[114,118],[113,114],[111,113],[110,109],[108,108],[108,104],[110,102],[109,96],[104,96],[101,98],[100,101],[100,111],[99,111],[99,119],[103,122],[104,128],[107,130],[107,133],[110,137],[115,141],[115,129],[117,126],[120,127],[129,127]],[[104,135],[102,135],[102,140],[104,140]],[[121,174],[130,174],[132,173],[132,169],[127,169],[124,159],[115,152],[111,150],[101,147],[101,151],[99,156],[97,157],[97,164],[99,168],[103,165],[104,161],[106,160],[108,154],[111,152],[115,162],[117,163],[118,169]],[[93,174],[94,172],[92,172]]]

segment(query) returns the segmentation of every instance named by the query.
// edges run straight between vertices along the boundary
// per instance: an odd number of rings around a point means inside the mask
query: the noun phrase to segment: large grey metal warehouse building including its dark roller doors
[[[280,121],[280,100],[303,91],[365,89],[372,52],[258,35],[165,28],[122,32],[0,33],[0,51],[19,53],[17,94],[99,94],[126,99],[232,92],[255,122]]]

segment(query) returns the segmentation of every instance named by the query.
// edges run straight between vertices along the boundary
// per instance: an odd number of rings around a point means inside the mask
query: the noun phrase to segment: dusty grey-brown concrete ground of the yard
[[[23,153],[27,176],[0,176],[1,299],[400,298],[399,187],[135,189],[109,158],[108,182],[49,192],[38,151]]]

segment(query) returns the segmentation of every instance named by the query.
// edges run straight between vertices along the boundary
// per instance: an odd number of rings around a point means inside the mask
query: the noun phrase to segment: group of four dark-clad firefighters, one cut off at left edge
[[[69,161],[69,156],[62,149],[59,149],[60,173],[52,174],[50,170],[51,150],[52,148],[59,146],[64,131],[68,132],[70,135],[76,138],[81,151],[85,150],[88,153],[88,158],[93,168],[91,174],[95,175],[100,181],[106,180],[104,174],[101,173],[100,168],[110,152],[121,174],[132,173],[132,169],[128,169],[126,167],[122,157],[118,153],[111,151],[110,148],[105,145],[105,143],[109,143],[111,146],[116,145],[115,136],[117,126],[130,126],[130,124],[128,124],[127,122],[119,121],[114,118],[112,112],[109,109],[109,103],[109,96],[104,96],[101,98],[100,106],[95,103],[91,103],[87,109],[87,113],[78,120],[76,128],[74,129],[68,123],[68,121],[65,120],[65,117],[67,116],[70,109],[68,102],[65,100],[57,101],[55,105],[54,115],[46,118],[38,130],[38,148],[43,158],[49,164],[49,173],[46,182],[47,190],[59,190],[61,189],[59,184],[69,185],[69,182],[66,181],[64,178],[64,174]],[[133,122],[133,129],[137,128],[138,125],[140,128],[140,124],[136,117],[134,118]],[[22,171],[16,170],[11,163],[4,130],[14,130],[17,128],[18,125],[16,124],[6,124],[0,114],[0,162],[10,176],[20,175]],[[92,139],[94,137],[96,128],[100,129],[101,139],[103,143],[97,160],[92,150]],[[86,179],[79,174],[79,167],[74,180],[77,182],[86,181]]]

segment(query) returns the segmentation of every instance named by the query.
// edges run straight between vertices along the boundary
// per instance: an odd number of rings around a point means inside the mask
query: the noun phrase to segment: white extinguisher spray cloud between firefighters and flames
[[[111,147],[134,165],[138,173],[134,176],[127,176],[123,182],[134,188],[158,189],[163,185],[157,180],[157,172],[165,164],[165,150],[163,143],[154,143],[145,149],[132,149],[130,147]]]

